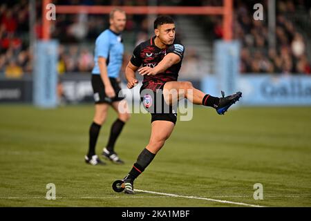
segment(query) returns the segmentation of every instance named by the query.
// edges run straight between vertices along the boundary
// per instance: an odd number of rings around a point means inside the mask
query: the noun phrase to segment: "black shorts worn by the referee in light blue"
[[[111,86],[115,90],[115,97],[110,98],[106,96],[105,93],[105,86],[102,82],[102,77],[100,75],[92,75],[92,87],[94,91],[94,101],[95,104],[102,104],[102,103],[108,103],[111,104],[113,102],[120,102],[122,99],[124,99],[124,96],[122,94],[121,88],[119,83],[117,82],[117,79],[114,77],[109,77]]]

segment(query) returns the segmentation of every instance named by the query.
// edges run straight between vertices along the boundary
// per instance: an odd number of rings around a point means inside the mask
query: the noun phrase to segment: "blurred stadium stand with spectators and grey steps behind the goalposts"
[[[57,4],[139,5],[147,1],[53,1]],[[267,6],[267,0],[261,1]],[[168,5],[158,1],[158,5]],[[220,1],[174,1],[180,6],[219,6]],[[241,48],[241,73],[279,73],[311,75],[310,1],[277,1],[276,48],[267,42],[267,19],[252,19],[253,3],[234,1],[234,39]],[[264,7],[266,8],[266,7]],[[266,13],[266,12],[265,12]],[[107,15],[104,15],[107,16]],[[108,27],[103,15],[57,15],[52,37],[59,39],[59,74],[89,73],[93,68],[93,41]],[[41,3],[37,1],[37,39],[41,36]],[[32,73],[32,53],[29,47],[28,1],[0,3],[0,77],[20,78]],[[133,47],[149,38],[148,21],[144,15],[128,15],[124,35],[126,54],[124,65]],[[200,78],[213,73],[212,43],[223,37],[220,17],[176,17],[179,37],[185,41],[187,52],[181,77]],[[197,21],[200,21],[198,23]],[[205,22],[205,26],[202,26]],[[202,28],[203,27],[203,28]],[[304,30],[304,31],[303,31]],[[309,31],[306,31],[309,30]],[[206,41],[205,41],[206,39]],[[192,44],[192,43],[193,44]],[[196,42],[196,44],[194,44]],[[191,70],[191,71],[190,71]]]

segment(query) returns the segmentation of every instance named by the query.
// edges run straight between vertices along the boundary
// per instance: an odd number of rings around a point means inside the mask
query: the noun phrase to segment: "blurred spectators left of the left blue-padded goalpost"
[[[32,70],[28,44],[28,1],[0,5],[0,73],[21,77]]]

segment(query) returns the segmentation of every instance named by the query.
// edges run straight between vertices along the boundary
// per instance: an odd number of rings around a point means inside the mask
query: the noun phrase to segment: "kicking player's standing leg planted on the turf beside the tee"
[[[160,151],[165,141],[173,132],[174,126],[175,124],[173,124],[173,122],[163,120],[156,120],[151,123],[151,137],[149,144],[144,150],[142,150],[140,155],[138,155],[138,159],[129,172],[129,175],[124,178],[124,193],[134,193],[134,180],[147,168],[158,151]]]

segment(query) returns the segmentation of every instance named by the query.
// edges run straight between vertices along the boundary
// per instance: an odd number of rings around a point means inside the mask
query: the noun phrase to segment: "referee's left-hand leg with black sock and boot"
[[[93,122],[89,129],[89,143],[88,143],[88,154],[84,157],[85,162],[92,165],[105,164],[95,154],[95,146],[97,143],[98,135],[100,134],[100,128],[106,121],[109,104],[95,104],[95,115]]]

